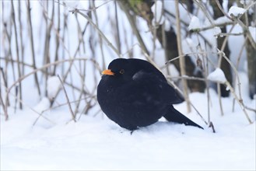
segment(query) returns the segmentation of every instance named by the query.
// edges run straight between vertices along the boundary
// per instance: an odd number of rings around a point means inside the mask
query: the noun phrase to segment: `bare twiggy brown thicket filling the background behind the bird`
[[[222,85],[218,86],[219,105],[222,105],[221,95],[229,96],[226,92],[228,86],[248,122],[252,123],[246,110],[254,109],[248,109],[243,103],[237,68],[240,58],[244,58],[242,52],[246,51],[250,82],[248,94],[252,98],[256,92],[256,45],[255,35],[251,35],[249,27],[256,24],[256,2],[190,0],[178,3],[176,0],[176,9],[181,9],[182,15],[178,10],[175,12],[175,8],[174,11],[167,10],[171,2],[1,2],[0,102],[5,119],[9,117],[9,106],[15,107],[19,103],[19,109],[23,109],[26,103],[23,99],[28,91],[24,85],[32,85],[37,89],[37,96],[49,99],[51,106],[48,110],[68,105],[72,120],[76,120],[77,113],[88,113],[97,106],[96,86],[100,71],[110,60],[145,58],[163,70],[170,83],[185,95],[188,109],[192,102],[187,92],[207,92],[212,85],[212,81],[207,79],[209,72],[221,68],[227,81],[216,82]],[[156,6],[157,3],[163,8]],[[228,13],[232,5],[244,9],[244,12],[239,15]],[[157,12],[157,8],[162,11]],[[204,20],[207,25],[189,28],[193,17]],[[242,32],[233,33],[235,27],[242,28]],[[217,39],[211,40],[207,37],[209,35]],[[239,55],[237,64],[234,64],[230,58],[228,38],[241,35],[244,36],[244,46],[237,50],[240,53],[235,52]],[[197,42],[188,42],[191,40]],[[159,56],[160,50],[163,51],[162,56]],[[167,62],[161,66],[159,61]],[[181,76],[172,75],[170,65],[174,65]],[[33,80],[29,79],[30,75],[33,75]],[[56,90],[54,97],[49,98],[47,80],[54,75],[60,75],[63,89]],[[173,79],[177,81],[171,81]],[[233,90],[234,79],[238,80],[238,94]],[[179,88],[175,84],[181,85],[181,80],[184,82]],[[62,91],[65,91],[65,98],[62,98]],[[44,111],[37,113],[41,117]],[[98,112],[94,111],[95,114]],[[208,122],[202,119],[205,124],[212,125],[208,116]]]

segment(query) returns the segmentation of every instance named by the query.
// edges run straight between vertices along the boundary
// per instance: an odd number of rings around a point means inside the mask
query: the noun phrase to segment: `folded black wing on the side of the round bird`
[[[139,71],[132,76],[132,81],[121,86],[119,96],[125,97],[124,102],[133,104],[149,104],[157,106],[173,104],[180,101],[174,88],[161,75]]]

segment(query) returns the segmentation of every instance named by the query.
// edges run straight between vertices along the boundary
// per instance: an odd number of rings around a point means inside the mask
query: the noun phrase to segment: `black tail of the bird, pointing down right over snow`
[[[198,124],[195,124],[195,122],[193,122],[192,120],[188,119],[188,117],[185,117],[179,111],[175,110],[173,105],[170,105],[170,107],[167,110],[167,113],[163,117],[165,117],[168,121],[171,122],[177,122],[179,124],[185,124],[204,129]]]

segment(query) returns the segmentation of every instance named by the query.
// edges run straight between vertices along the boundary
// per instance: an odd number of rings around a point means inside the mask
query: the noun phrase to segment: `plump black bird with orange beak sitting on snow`
[[[173,104],[182,102],[180,97],[162,72],[148,61],[118,58],[102,74],[98,102],[107,117],[121,127],[134,131],[165,117],[202,128],[174,109]]]

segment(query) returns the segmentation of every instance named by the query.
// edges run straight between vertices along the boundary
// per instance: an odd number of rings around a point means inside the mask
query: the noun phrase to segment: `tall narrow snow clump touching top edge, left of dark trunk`
[[[157,24],[163,24],[165,18],[162,14],[163,12],[163,2],[162,1],[156,1],[156,3],[154,3],[154,5],[151,7],[151,11],[154,14],[154,18],[152,20],[152,24],[153,26]]]

